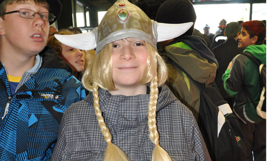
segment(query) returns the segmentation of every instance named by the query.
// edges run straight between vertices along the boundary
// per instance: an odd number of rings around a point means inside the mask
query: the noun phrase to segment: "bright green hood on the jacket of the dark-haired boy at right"
[[[266,65],[266,45],[250,45],[245,50],[250,52],[255,58],[259,59],[262,64]]]

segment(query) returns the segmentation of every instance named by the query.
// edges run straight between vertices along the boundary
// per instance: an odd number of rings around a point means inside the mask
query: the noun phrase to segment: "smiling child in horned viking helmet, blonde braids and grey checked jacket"
[[[56,34],[96,55],[82,78],[91,93],[64,112],[51,161],[210,161],[192,112],[164,85],[156,49],[192,24],[157,23],[118,0],[92,32]]]

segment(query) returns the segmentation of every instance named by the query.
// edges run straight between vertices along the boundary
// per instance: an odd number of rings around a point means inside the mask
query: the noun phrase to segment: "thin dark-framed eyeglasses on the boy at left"
[[[41,13],[38,13],[38,12],[35,12],[35,11],[32,11],[32,10],[29,10],[29,9],[19,9],[17,11],[11,11],[11,12],[7,12],[7,13],[4,13],[5,15],[6,14],[12,14],[12,13],[18,13],[18,15],[22,18],[28,18],[28,19],[32,19],[34,18],[35,14],[39,14],[41,18],[43,18],[44,21],[54,21],[54,19],[56,18],[55,15],[49,13],[49,12],[41,12]]]

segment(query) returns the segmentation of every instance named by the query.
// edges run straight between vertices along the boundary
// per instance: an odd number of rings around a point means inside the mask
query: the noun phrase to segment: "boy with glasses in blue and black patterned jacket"
[[[62,113],[85,97],[51,47],[59,0],[0,0],[0,161],[50,160]]]

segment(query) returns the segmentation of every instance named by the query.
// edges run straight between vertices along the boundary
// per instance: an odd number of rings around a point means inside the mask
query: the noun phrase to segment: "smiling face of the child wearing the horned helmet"
[[[112,80],[116,88],[137,87],[147,65],[148,50],[145,41],[136,38],[113,42]]]

